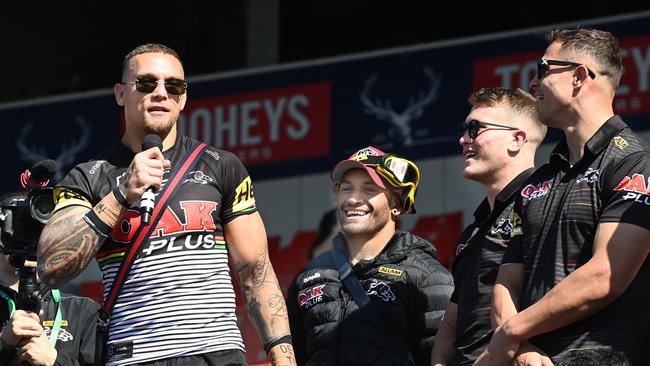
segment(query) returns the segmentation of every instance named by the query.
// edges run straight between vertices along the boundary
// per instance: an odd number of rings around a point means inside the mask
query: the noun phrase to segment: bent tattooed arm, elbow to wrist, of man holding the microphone
[[[114,227],[124,207],[109,193],[93,210],[108,226]],[[38,243],[38,275],[50,288],[60,288],[77,277],[95,257],[105,238],[97,234],[86,221],[88,208],[70,206],[50,218]]]

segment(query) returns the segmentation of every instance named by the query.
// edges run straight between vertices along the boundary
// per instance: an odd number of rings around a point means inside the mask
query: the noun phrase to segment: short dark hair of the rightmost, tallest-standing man
[[[597,74],[608,76],[612,85],[618,87],[623,75],[623,56],[618,39],[610,32],[591,29],[554,29],[546,34],[549,44],[561,43],[563,54],[579,54],[594,60],[600,70]]]

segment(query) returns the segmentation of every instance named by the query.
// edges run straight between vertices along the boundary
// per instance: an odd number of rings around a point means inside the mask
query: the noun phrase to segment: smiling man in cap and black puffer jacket
[[[453,280],[431,243],[396,227],[399,215],[415,212],[418,167],[366,147],[331,178],[341,233],[287,295],[298,364],[429,365]],[[349,290],[351,282],[359,291]],[[355,292],[368,303],[360,307]]]

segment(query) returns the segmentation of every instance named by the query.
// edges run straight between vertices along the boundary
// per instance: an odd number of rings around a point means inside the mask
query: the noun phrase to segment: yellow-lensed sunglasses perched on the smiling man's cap
[[[368,156],[363,164],[373,167],[377,174],[395,188],[403,188],[400,205],[405,213],[415,213],[415,193],[420,184],[420,169],[401,156],[386,154]]]

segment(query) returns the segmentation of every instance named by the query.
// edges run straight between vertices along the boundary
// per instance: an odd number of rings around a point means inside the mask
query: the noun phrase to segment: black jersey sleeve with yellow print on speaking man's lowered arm
[[[256,212],[257,206],[253,183],[241,160],[228,152],[222,152],[221,159],[217,176],[223,192],[221,220],[226,224],[238,216]]]

